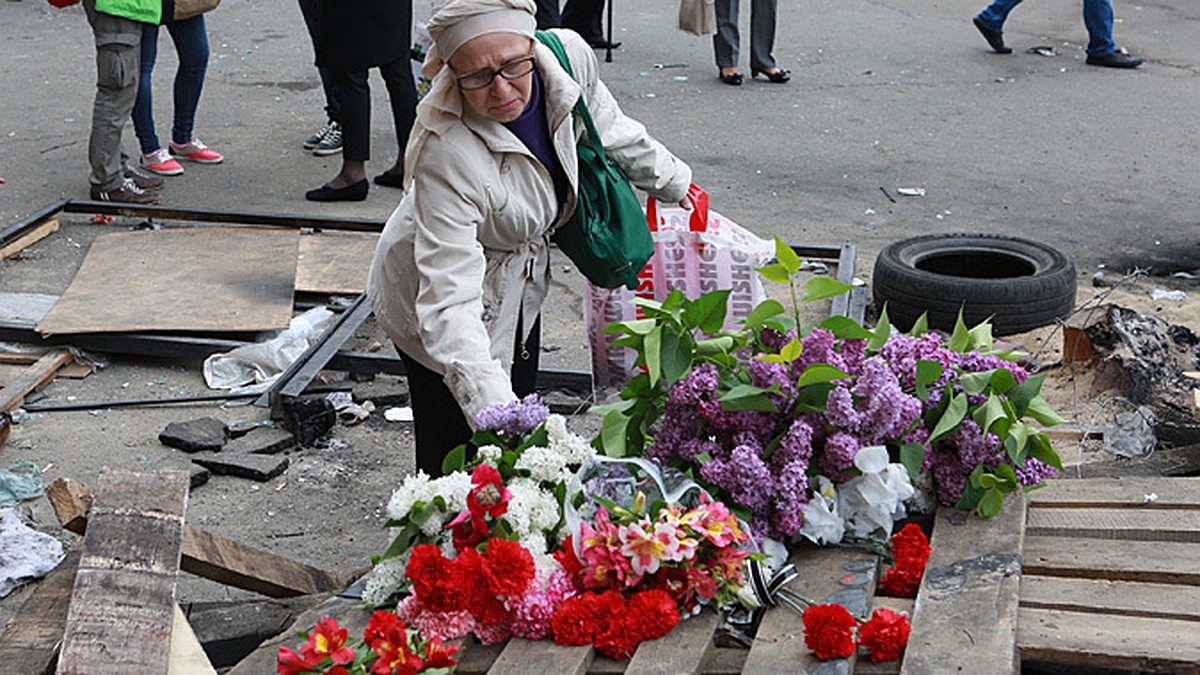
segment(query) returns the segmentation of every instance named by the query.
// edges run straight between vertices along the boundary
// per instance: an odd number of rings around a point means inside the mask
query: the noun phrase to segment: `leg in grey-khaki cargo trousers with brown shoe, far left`
[[[142,49],[139,22],[96,11],[95,0],[83,0],[96,44],[96,97],[88,138],[88,183],[92,199],[154,204],[157,192],[146,192],[127,177],[127,155],[121,148],[125,123],[138,96]]]

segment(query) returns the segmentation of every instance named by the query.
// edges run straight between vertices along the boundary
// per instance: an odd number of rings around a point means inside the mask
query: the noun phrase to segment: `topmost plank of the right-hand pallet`
[[[1031,514],[1040,508],[1086,507],[1200,510],[1200,478],[1055,478],[1030,492]]]

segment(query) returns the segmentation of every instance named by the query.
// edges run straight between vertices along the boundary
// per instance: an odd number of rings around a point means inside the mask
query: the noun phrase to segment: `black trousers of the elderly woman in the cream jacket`
[[[538,354],[541,348],[541,317],[529,331],[529,338],[517,344],[512,354],[512,392],[521,398],[533,394],[538,384]],[[398,351],[398,350],[397,350]],[[400,352],[408,377],[408,393],[413,407],[413,434],[416,436],[416,468],[431,477],[442,476],[442,460],[456,447],[470,440],[472,430],[450,388],[440,375]],[[468,456],[475,449],[468,447]]]

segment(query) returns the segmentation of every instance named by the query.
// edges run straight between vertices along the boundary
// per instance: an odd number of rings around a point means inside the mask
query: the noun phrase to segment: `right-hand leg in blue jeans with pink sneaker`
[[[168,22],[167,31],[175,43],[179,68],[175,70],[175,113],[170,129],[170,153],[203,165],[216,165],[224,157],[196,138],[196,109],[204,91],[204,76],[209,71],[209,32],[204,14]]]

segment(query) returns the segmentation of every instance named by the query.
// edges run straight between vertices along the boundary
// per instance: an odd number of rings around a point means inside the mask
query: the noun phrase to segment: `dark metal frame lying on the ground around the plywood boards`
[[[610,8],[611,11],[611,8]],[[611,19],[610,19],[611,22]],[[312,227],[314,229],[382,232],[385,221],[330,216],[294,216],[246,211],[221,211],[208,209],[176,209],[161,205],[127,205],[112,202],[60,201],[31,213],[23,221],[0,229],[0,246],[16,240],[42,221],[60,213],[104,214],[121,216],[158,217],[163,220],[191,220],[230,225],[254,225],[274,227]],[[846,243],[840,246],[792,245],[802,258],[834,259],[838,264],[838,281],[853,285],[856,249]],[[847,316],[862,323],[865,316],[865,286],[854,286],[846,294],[833,299],[832,316]],[[324,368],[359,374],[403,375],[404,364],[400,357],[388,353],[340,351],[346,340],[371,315],[371,305],[365,295],[342,312],[337,321],[313,344],[256,405],[278,410],[283,396],[299,395]],[[242,340],[202,338],[191,335],[162,335],[149,333],[89,333],[42,338],[32,324],[0,322],[0,340],[36,342],[43,345],[73,345],[85,351],[116,354],[151,356],[180,359],[203,359],[210,354],[228,352],[250,342]],[[565,390],[588,395],[592,390],[592,374],[587,370],[541,368],[538,370],[538,388]]]

